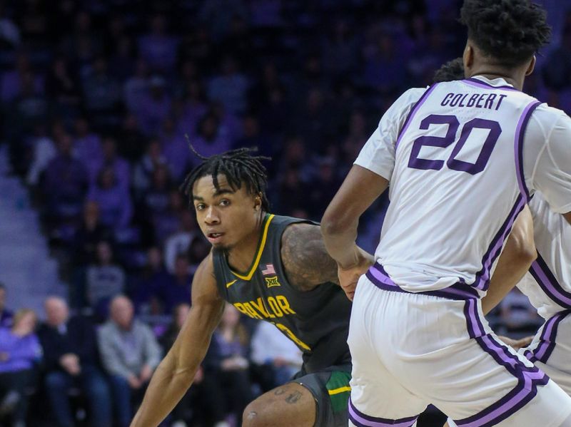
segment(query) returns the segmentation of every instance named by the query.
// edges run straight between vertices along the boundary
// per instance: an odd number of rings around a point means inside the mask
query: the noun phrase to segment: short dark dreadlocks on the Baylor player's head
[[[271,158],[262,155],[252,155],[252,153],[256,153],[256,148],[237,148],[236,150],[229,150],[226,153],[212,155],[211,157],[204,157],[198,154],[192,145],[191,150],[196,157],[203,160],[200,165],[186,175],[181,185],[181,190],[191,200],[196,180],[211,175],[214,187],[216,187],[216,190],[220,190],[218,175],[224,175],[232,190],[238,190],[244,183],[249,194],[260,195],[262,209],[268,212],[270,208],[270,202],[268,202],[268,197],[266,197],[268,176],[262,160],[271,160]]]

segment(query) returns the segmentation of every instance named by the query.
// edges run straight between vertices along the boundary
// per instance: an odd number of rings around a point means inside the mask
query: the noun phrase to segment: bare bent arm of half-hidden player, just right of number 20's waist
[[[484,314],[489,313],[520,282],[536,258],[533,218],[526,205],[515,220],[510,237],[497,261],[490,287],[482,298]]]

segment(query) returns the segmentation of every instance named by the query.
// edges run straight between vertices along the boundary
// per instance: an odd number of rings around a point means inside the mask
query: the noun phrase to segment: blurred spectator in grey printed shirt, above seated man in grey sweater
[[[97,244],[96,261],[87,269],[87,302],[103,314],[109,299],[125,289],[125,273],[113,263],[113,249],[108,242]]]

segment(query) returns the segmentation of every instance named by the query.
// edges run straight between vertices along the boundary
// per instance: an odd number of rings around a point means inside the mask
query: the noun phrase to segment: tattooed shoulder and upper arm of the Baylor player
[[[318,225],[288,226],[281,237],[285,274],[297,289],[309,291],[324,282],[339,283],[337,264],[325,249]]]

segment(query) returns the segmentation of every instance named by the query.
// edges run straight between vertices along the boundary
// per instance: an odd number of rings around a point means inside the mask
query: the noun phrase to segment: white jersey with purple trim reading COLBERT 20
[[[556,127],[564,135],[550,143]],[[571,154],[560,165],[547,149],[571,152],[570,136],[564,113],[502,79],[408,91],[355,161],[390,181],[375,258],[406,291],[461,282],[483,294],[530,190],[571,210]]]

